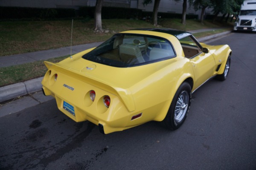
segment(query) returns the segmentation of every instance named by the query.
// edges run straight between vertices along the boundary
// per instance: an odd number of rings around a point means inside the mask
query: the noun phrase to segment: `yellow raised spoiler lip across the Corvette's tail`
[[[106,91],[109,91],[110,93],[117,94],[129,112],[132,112],[135,110],[134,98],[133,98],[129,88],[115,87],[114,85],[111,85],[111,83],[109,83],[109,82],[105,82],[100,79],[96,79],[95,77],[86,76],[84,74],[81,74],[81,72],[79,72],[78,70],[76,71],[72,68],[67,68],[63,65],[59,65],[58,63],[44,61],[44,64],[46,65],[46,67],[48,69],[56,68],[56,70],[58,70],[60,72],[62,72],[63,70],[70,71],[73,74],[79,75],[80,77],[86,77],[87,79],[90,79],[91,82],[93,82],[93,81],[97,82],[97,83],[92,83],[92,85],[102,84],[102,85],[98,85],[98,86],[95,85],[95,86],[97,86],[98,88],[104,89]]]

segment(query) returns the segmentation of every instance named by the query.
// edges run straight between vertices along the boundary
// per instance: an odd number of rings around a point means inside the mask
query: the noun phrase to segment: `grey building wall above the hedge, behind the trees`
[[[153,11],[154,0],[151,4],[143,6],[143,0],[104,0],[103,6],[139,8],[143,11]],[[183,1],[161,0],[158,11],[170,13],[182,13]],[[19,6],[35,8],[78,8],[79,6],[95,6],[96,0],[0,0],[0,6]],[[187,7],[187,14],[198,14],[192,7]],[[211,13],[210,9],[206,13]]]

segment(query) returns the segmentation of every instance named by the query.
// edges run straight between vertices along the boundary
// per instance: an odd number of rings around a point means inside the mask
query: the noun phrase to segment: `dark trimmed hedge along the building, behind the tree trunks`
[[[94,18],[95,7],[84,6],[79,10],[70,8],[26,8],[0,7],[0,20],[9,19],[61,19],[71,17]],[[152,12],[136,8],[102,7],[102,19],[143,19],[151,17]],[[181,14],[159,12],[161,18],[181,18]],[[187,19],[198,18],[198,15],[187,14]]]

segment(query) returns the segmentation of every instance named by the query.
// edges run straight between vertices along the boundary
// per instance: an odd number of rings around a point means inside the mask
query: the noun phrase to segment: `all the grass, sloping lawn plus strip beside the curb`
[[[180,30],[195,30],[203,28],[218,28],[223,25],[212,24],[205,21],[202,25],[198,20],[186,20],[186,25],[180,23],[180,19],[162,19],[157,28],[174,28]],[[70,45],[71,20],[62,21],[8,21],[0,24],[0,51],[1,56],[21,54],[32,51],[66,47]],[[95,33],[93,20],[73,21],[73,45],[99,42],[107,40],[113,34],[133,28],[154,28],[143,20],[102,20],[102,27],[108,29],[108,33]],[[227,25],[225,25],[226,27]],[[195,37],[204,37],[210,34],[227,31],[230,28],[218,29],[194,34]],[[51,62],[59,62],[66,58],[58,57],[49,59]],[[29,79],[44,76],[47,68],[43,61],[27,63],[23,65],[0,68],[0,87],[23,82]]]

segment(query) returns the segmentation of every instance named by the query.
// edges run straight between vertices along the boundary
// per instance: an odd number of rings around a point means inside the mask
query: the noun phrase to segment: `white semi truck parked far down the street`
[[[244,1],[233,30],[256,31],[256,0]]]

